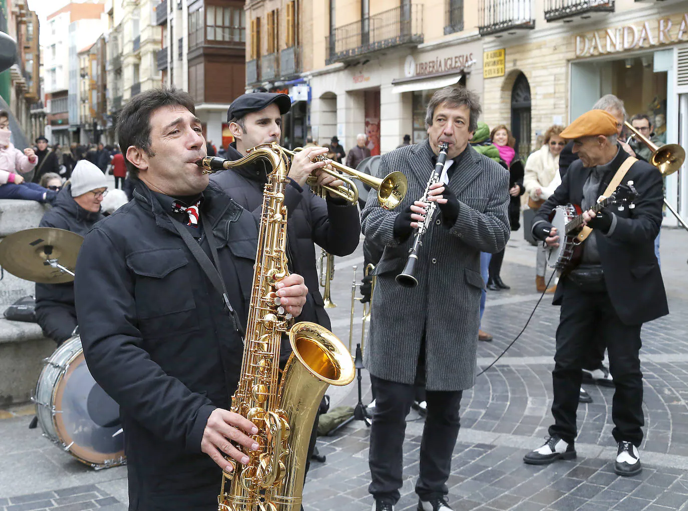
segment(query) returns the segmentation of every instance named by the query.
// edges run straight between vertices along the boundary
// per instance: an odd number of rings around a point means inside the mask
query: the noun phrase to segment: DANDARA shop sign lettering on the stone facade
[[[688,14],[683,14],[680,21],[663,18],[645,21],[642,25],[625,25],[579,34],[576,36],[576,56],[605,55],[681,41],[688,41]]]

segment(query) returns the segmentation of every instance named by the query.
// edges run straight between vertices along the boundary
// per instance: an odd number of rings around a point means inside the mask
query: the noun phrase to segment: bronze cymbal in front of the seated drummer
[[[83,240],[76,233],[52,227],[15,232],[0,242],[0,265],[20,279],[40,284],[72,282],[72,275],[53,268],[47,260],[57,260],[74,272]]]

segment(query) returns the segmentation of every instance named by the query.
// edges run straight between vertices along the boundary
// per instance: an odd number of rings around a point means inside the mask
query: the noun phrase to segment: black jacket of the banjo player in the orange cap
[[[611,170],[600,183],[598,194],[604,192],[627,157],[627,153],[620,147]],[[580,205],[583,184],[591,171],[590,168],[583,167],[580,159],[574,161],[559,188],[538,210],[533,220],[534,227],[539,220],[547,221],[550,212],[557,205]],[[619,211],[614,206],[610,207],[610,212],[616,215],[616,227],[611,235],[605,236],[593,229],[590,236],[596,236],[605,284],[614,310],[624,323],[637,325],[669,314],[662,273],[654,255],[654,239],[662,223],[664,194],[662,174],[645,161],[637,161],[631,166],[622,182],[629,180],[634,181],[639,194],[634,209],[625,207],[623,211]],[[534,229],[535,234],[539,234],[540,230]],[[557,285],[555,305],[561,304],[567,285],[566,278]]]

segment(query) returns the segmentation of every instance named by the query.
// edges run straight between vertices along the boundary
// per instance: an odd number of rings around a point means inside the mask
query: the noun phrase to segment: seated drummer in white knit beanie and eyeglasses
[[[56,227],[85,236],[103,218],[100,203],[107,194],[107,179],[93,163],[80,160],[68,183],[58,193],[54,207],[41,218],[40,227]],[[72,337],[76,328],[74,283],[36,284],[36,319],[45,337],[58,346]]]

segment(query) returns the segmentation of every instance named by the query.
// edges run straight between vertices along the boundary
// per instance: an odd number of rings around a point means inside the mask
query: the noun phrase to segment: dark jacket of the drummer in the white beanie
[[[102,219],[102,214],[78,205],[72,198],[71,185],[67,185],[58,193],[54,207],[45,212],[39,227],[56,227],[85,236]],[[72,337],[76,327],[74,283],[36,284],[36,319],[45,337],[58,345]]]

